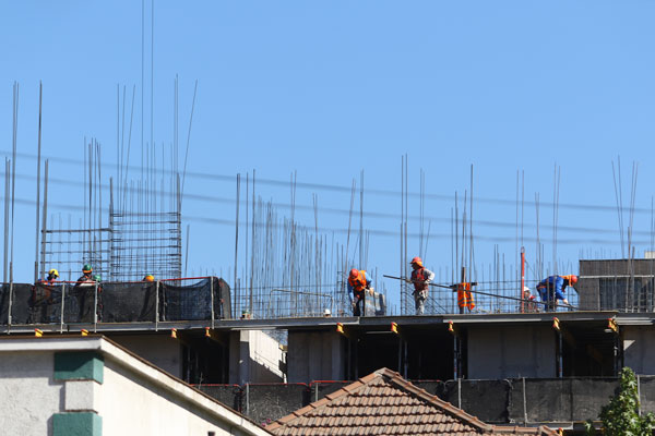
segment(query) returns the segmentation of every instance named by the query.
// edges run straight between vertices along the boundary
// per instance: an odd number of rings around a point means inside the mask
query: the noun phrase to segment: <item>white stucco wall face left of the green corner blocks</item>
[[[52,356],[46,351],[0,352],[0,434],[52,434],[48,420],[63,403]]]

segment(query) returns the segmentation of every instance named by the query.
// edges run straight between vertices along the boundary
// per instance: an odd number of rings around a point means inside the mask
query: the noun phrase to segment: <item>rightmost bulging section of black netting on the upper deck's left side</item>
[[[189,286],[162,282],[159,295],[164,306],[159,314],[160,320],[211,319],[212,291],[214,319],[230,318],[229,287],[225,280],[212,277]]]

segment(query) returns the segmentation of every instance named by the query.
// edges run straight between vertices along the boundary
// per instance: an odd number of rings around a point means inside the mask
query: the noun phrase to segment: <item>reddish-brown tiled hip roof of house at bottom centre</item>
[[[277,436],[314,435],[541,435],[548,427],[486,424],[388,368],[266,426]]]

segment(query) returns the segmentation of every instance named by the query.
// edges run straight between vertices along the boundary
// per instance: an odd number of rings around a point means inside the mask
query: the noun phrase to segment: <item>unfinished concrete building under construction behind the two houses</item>
[[[642,410],[655,410],[654,262],[581,261],[579,306],[557,312],[513,302],[493,313],[250,317],[216,278],[7,283],[0,331],[102,332],[257,420],[389,367],[485,421],[573,431],[596,417],[623,366],[639,375]]]

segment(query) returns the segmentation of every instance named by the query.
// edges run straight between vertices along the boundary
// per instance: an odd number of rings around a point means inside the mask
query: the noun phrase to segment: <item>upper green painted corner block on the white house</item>
[[[105,360],[95,351],[55,353],[56,380],[96,380],[103,384]]]

